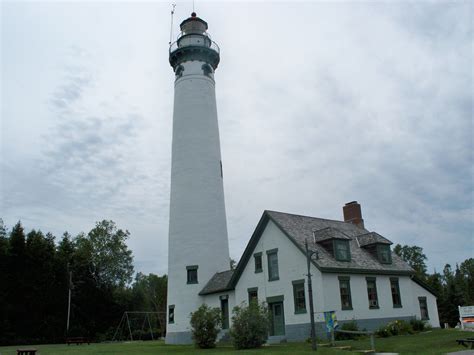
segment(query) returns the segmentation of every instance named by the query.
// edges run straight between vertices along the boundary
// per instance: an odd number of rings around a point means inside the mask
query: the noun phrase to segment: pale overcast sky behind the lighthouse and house
[[[0,217],[128,229],[167,272],[171,2],[1,2]],[[174,34],[192,12],[177,2]],[[473,257],[473,2],[196,2],[216,72],[230,254],[265,209]]]

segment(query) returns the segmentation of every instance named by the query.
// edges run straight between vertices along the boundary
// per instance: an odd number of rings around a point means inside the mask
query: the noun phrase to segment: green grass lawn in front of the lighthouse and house
[[[456,329],[435,329],[428,333],[403,335],[390,338],[376,338],[378,352],[397,352],[402,354],[445,354],[466,348],[457,345],[456,339],[474,337],[472,332],[461,332]],[[337,346],[350,345],[354,350],[370,348],[369,339],[337,342]],[[33,347],[40,355],[59,354],[311,354],[309,343],[288,343],[265,346],[257,350],[234,350],[230,345],[219,345],[216,349],[199,350],[188,345],[165,345],[162,341],[101,343],[91,345],[34,345],[0,347],[0,355],[14,355],[16,349]],[[350,354],[347,350],[319,347],[317,354]]]

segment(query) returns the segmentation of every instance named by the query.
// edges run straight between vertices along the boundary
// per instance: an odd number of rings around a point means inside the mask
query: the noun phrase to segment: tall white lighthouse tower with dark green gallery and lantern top
[[[219,47],[193,12],[170,46],[175,72],[166,343],[191,342],[199,291],[229,269],[214,71]]]

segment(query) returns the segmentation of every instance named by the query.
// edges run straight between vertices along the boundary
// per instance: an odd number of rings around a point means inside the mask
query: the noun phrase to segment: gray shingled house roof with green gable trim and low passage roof
[[[388,239],[382,237],[380,234],[369,232],[364,228],[348,222],[276,211],[265,211],[252,238],[250,238],[245,248],[237,268],[235,270],[216,273],[206,286],[204,286],[199,293],[200,295],[223,292],[235,287],[246,264],[251,260],[253,250],[269,219],[275,222],[282,232],[285,233],[303,253],[305,250],[305,240],[308,240],[309,248],[316,251],[317,255],[317,258],[313,259],[313,262],[322,272],[393,275],[411,275],[414,273],[414,270],[393,252],[392,263],[382,264],[368,250],[361,248],[361,240],[363,243],[366,243],[364,245],[368,245],[374,241],[375,243],[391,244]],[[322,245],[318,244],[318,242],[328,239],[349,240],[351,261],[337,261]],[[303,254],[302,257],[304,257]]]

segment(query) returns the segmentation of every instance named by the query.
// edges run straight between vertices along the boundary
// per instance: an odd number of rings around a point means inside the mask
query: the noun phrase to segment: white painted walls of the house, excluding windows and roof
[[[266,251],[278,248],[279,280],[268,280],[268,262]],[[254,253],[262,253],[263,272],[255,273],[253,256],[246,265],[235,289],[235,302],[248,302],[248,288],[258,287],[260,301],[267,297],[284,296],[285,324],[309,323],[309,297],[307,282],[307,266],[305,255],[283,234],[283,232],[270,220],[263,231]],[[325,311],[336,311],[338,320],[384,320],[393,318],[407,319],[416,317],[420,319],[418,297],[427,298],[430,324],[439,327],[436,298],[424,288],[414,283],[409,276],[399,275],[373,275],[373,274],[348,274],[348,273],[321,273],[311,265],[313,281],[313,299],[316,322],[323,322]],[[338,276],[349,276],[351,286],[352,310],[342,310]],[[366,277],[375,277],[379,308],[369,308]],[[390,287],[390,278],[398,278],[402,307],[394,307]],[[294,280],[305,280],[306,309],[307,313],[295,314],[293,301]]]

